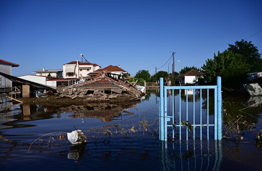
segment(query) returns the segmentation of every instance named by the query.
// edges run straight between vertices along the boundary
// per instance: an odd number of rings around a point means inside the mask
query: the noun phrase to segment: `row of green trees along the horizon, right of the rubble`
[[[215,84],[216,77],[221,76],[224,87],[239,88],[246,82],[247,73],[262,71],[261,53],[251,41],[247,42],[242,39],[236,41],[235,44],[229,44],[225,51],[218,51],[217,55],[214,53],[214,57],[208,58],[201,68],[186,66],[179,73],[175,72],[175,77],[191,69],[205,73],[204,77],[199,78],[202,84]],[[166,71],[158,71],[150,75],[148,70],[139,70],[135,75],[135,78],[143,78],[147,82],[155,82],[160,77],[172,79],[171,73],[168,74]]]

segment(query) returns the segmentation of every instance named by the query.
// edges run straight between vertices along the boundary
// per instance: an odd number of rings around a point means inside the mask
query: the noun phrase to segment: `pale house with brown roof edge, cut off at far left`
[[[12,75],[12,67],[18,67],[19,64],[9,62],[3,59],[0,59],[0,72]],[[12,81],[0,75],[0,88],[11,88]]]

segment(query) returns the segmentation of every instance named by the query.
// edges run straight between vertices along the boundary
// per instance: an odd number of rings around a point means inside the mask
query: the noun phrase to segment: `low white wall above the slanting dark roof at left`
[[[22,78],[22,79],[29,80],[29,81],[32,81],[32,82],[56,87],[56,82],[48,81],[48,80],[55,79],[55,77],[51,77],[51,76],[22,75],[22,76],[18,76],[18,78]]]

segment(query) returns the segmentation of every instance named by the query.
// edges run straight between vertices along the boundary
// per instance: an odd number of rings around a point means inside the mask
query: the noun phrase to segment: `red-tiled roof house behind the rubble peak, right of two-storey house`
[[[100,73],[102,71],[105,71],[106,73],[115,74],[115,75],[112,75],[115,78],[117,78],[118,75],[123,75],[123,74],[127,73],[127,71],[125,71],[122,68],[120,68],[120,65],[118,65],[118,66],[109,65],[109,66],[107,66],[105,68],[97,69],[94,72],[90,72],[88,75],[89,76],[94,76],[94,75],[97,75],[98,73]]]

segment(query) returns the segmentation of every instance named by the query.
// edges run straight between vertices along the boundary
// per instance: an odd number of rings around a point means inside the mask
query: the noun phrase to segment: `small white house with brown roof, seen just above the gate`
[[[203,72],[191,69],[181,75],[179,75],[176,80],[178,80],[181,84],[191,84],[195,83],[198,75],[204,75]]]

